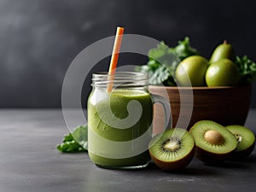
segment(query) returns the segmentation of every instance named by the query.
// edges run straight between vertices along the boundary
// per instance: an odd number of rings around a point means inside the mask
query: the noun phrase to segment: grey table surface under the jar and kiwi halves
[[[256,131],[256,110],[246,125]],[[254,191],[256,150],[246,160],[206,166],[194,158],[184,172],[162,172],[154,164],[139,171],[96,167],[88,154],[56,149],[67,127],[58,109],[0,110],[0,191]]]

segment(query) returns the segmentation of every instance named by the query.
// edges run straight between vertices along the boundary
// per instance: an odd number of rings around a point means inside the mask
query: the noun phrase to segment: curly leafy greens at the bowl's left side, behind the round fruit
[[[189,45],[189,38],[179,41],[174,48],[168,47],[164,42],[160,42],[156,48],[148,51],[148,63],[136,67],[135,71],[148,73],[149,84],[163,84],[166,86],[176,86],[174,77],[175,70],[180,61],[190,55],[198,55],[196,49]]]

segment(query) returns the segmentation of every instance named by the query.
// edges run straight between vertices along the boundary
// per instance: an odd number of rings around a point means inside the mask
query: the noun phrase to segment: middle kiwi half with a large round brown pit
[[[190,129],[195,138],[195,155],[206,164],[218,165],[236,150],[236,137],[224,126],[201,120]]]

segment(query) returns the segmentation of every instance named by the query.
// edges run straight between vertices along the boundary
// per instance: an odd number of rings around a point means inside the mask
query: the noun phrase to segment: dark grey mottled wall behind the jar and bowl
[[[256,61],[255,10],[253,0],[0,0],[0,107],[61,107],[61,85],[73,58],[114,35],[116,26],[170,46],[189,36],[206,57],[228,39],[237,55]],[[125,55],[122,60],[134,58]],[[98,69],[108,70],[108,59]],[[255,84],[253,88],[256,107]]]

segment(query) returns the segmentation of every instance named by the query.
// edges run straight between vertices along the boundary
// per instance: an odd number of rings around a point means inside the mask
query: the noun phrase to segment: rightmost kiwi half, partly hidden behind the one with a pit
[[[255,147],[255,136],[253,131],[241,125],[229,125],[226,128],[234,134],[237,141],[235,154],[230,159],[241,159],[253,152]]]

